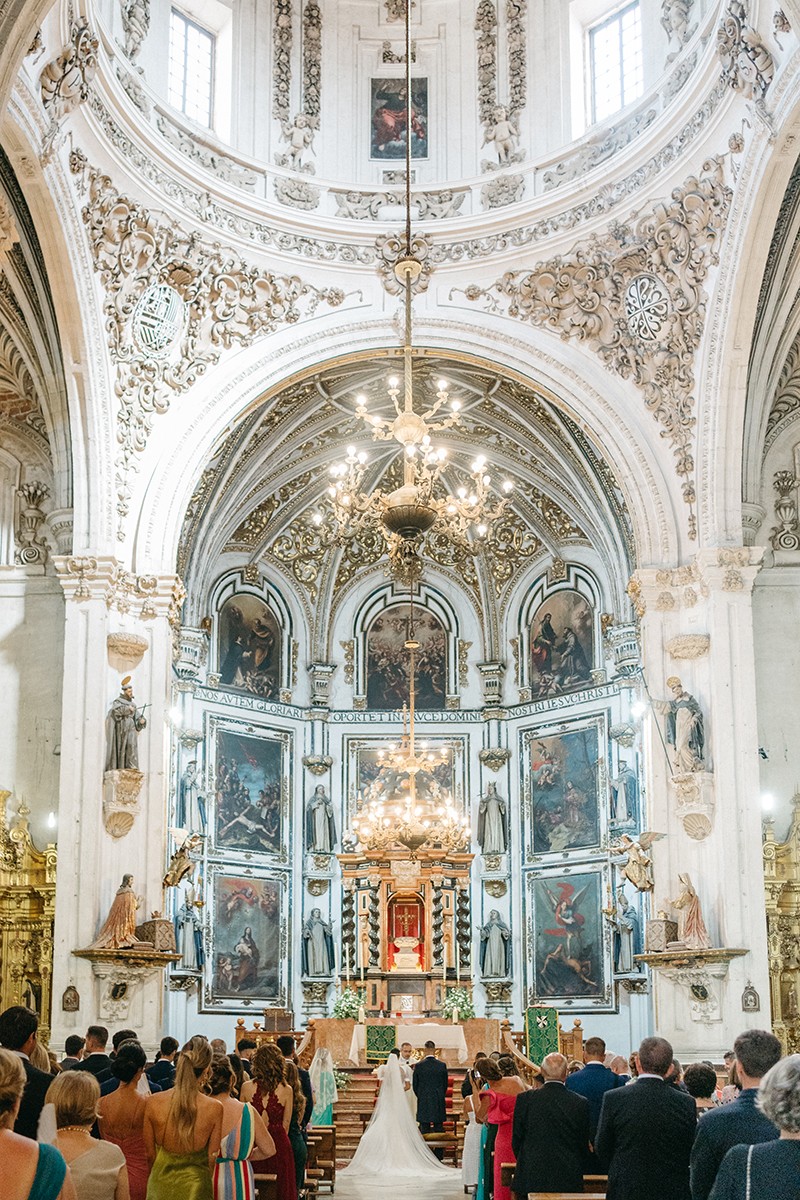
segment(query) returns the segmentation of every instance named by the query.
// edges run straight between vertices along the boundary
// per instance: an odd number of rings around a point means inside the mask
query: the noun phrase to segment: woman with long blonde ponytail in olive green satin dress
[[[219,1153],[222,1105],[201,1094],[210,1073],[207,1038],[190,1038],[178,1056],[174,1086],[146,1103],[143,1132],[152,1163],[148,1200],[213,1200],[211,1170]]]

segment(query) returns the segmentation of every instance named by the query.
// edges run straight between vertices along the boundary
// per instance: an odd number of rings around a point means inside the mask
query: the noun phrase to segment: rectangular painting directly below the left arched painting
[[[275,854],[282,845],[283,742],[217,730],[213,828],[217,850]]]

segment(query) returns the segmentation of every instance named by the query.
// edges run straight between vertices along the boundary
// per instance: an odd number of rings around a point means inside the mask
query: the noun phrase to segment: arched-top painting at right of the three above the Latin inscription
[[[534,700],[579,691],[591,684],[595,618],[578,592],[557,592],[539,606],[530,628],[530,694]]]

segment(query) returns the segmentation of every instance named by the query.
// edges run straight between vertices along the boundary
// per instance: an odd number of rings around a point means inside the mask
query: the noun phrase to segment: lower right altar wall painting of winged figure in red
[[[534,1003],[602,997],[606,950],[600,871],[530,881]]]

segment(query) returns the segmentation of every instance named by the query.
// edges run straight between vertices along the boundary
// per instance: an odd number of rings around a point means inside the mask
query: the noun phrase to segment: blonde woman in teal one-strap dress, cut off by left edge
[[[14,1133],[25,1090],[19,1055],[0,1050],[0,1163],[4,1200],[76,1200],[64,1154]]]

